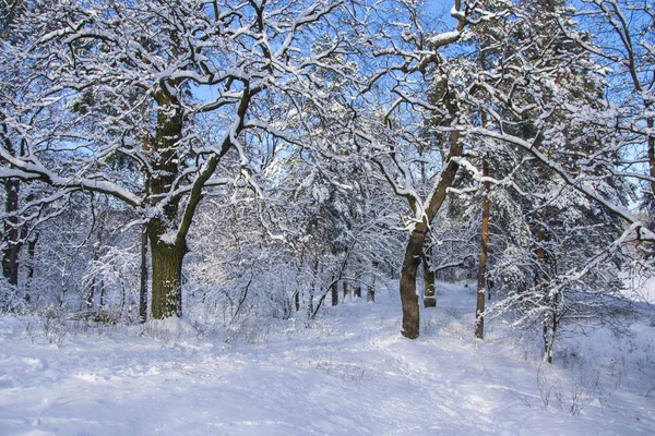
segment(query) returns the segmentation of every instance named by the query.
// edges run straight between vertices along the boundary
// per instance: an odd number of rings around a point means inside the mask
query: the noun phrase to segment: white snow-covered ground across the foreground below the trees
[[[396,292],[226,341],[190,322],[0,318],[0,435],[653,435],[655,327],[538,343],[472,339],[467,289],[440,283],[422,336]]]

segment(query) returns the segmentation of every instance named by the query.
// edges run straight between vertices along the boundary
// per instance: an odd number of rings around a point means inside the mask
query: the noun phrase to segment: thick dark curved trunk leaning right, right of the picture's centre
[[[420,258],[422,256],[424,242],[428,232],[428,227],[432,218],[437,215],[441,205],[445,201],[448,187],[453,184],[457,168],[460,167],[453,158],[462,156],[462,144],[460,143],[460,133],[451,134],[451,144],[446,167],[441,172],[439,182],[430,194],[427,207],[421,214],[422,220],[417,222],[414,230],[409,233],[409,241],[405,249],[403,258],[403,269],[401,270],[401,303],[403,305],[403,329],[402,335],[409,339],[416,339],[419,335],[419,308],[418,294],[416,293],[416,272]],[[416,213],[416,208],[413,207]]]

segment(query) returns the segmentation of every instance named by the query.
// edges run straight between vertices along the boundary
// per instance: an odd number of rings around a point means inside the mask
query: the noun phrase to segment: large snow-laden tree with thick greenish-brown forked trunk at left
[[[151,244],[152,315],[181,315],[182,261],[199,204],[214,186],[254,186],[262,137],[311,146],[307,120],[284,130],[279,120],[309,104],[317,117],[327,114],[317,70],[350,75],[337,62],[350,40],[346,5],[29,2],[16,24],[22,37],[0,55],[22,89],[4,122],[24,144],[0,152],[0,175],[102,193],[136,209]]]

